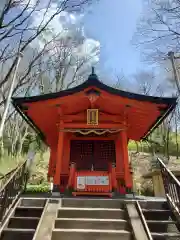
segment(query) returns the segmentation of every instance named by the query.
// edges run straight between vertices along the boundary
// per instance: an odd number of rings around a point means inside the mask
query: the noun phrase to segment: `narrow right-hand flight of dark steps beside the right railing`
[[[179,240],[180,224],[172,215],[166,201],[142,201],[142,212],[153,240]]]

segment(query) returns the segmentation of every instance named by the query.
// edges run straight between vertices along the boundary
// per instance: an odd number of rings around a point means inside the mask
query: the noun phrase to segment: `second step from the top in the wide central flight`
[[[57,218],[97,218],[97,219],[126,219],[122,209],[108,208],[60,208]]]

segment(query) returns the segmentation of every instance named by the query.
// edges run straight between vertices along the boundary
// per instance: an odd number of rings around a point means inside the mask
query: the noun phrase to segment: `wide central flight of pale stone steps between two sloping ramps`
[[[95,199],[62,200],[52,231],[52,240],[60,239],[133,239],[124,202]]]

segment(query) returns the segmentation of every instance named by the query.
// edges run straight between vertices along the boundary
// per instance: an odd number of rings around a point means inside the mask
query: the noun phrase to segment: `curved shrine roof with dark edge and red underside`
[[[103,84],[95,74],[71,89],[33,97],[12,98],[16,110],[48,144],[57,139],[57,123],[63,120],[81,128],[90,108],[89,94],[97,97],[96,107],[107,124],[128,123],[129,139],[146,138],[175,108],[177,98],[135,94]],[[59,110],[61,109],[61,110]],[[73,115],[73,116],[72,116]],[[69,125],[69,126],[70,126]]]

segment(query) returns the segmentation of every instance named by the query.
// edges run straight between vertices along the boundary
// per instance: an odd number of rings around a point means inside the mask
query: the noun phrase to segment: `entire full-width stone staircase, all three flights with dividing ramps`
[[[0,240],[180,239],[166,201],[138,202],[142,214],[131,200],[22,198],[1,226]]]

